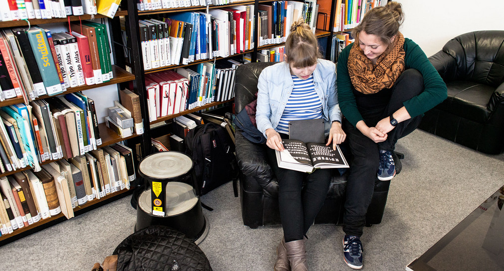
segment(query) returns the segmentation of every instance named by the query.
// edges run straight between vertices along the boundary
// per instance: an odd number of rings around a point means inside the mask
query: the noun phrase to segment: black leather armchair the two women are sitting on
[[[236,69],[235,111],[238,113],[253,102],[258,92],[257,83],[261,71],[274,63],[248,63]],[[278,209],[278,183],[266,158],[266,144],[251,143],[237,129],[236,158],[240,168],[240,202],[243,224],[250,228],[264,225],[280,225]],[[348,159],[349,157],[347,157]],[[350,159],[348,159],[350,162]],[[346,177],[334,170],[326,202],[315,219],[316,224],[341,224],[345,201]],[[376,179],[366,224],[379,224],[387,203],[390,180]]]

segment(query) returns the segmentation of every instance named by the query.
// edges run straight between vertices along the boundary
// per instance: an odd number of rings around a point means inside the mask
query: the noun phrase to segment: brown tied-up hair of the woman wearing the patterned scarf
[[[389,2],[385,7],[376,7],[364,15],[360,24],[352,31],[355,42],[359,42],[359,34],[364,31],[368,35],[375,35],[387,46],[392,44],[392,37],[399,32],[404,21],[401,4]],[[389,49],[392,46],[389,46]]]

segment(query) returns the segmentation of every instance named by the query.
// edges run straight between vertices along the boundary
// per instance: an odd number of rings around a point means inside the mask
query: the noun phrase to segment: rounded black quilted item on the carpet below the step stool
[[[149,226],[133,233],[113,254],[117,255],[117,271],[212,271],[200,247],[166,226]]]

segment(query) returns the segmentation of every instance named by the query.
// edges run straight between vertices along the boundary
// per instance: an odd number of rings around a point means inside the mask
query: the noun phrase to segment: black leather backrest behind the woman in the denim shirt
[[[256,62],[240,65],[235,71],[234,110],[239,113],[256,99],[259,75],[264,68],[276,62]]]

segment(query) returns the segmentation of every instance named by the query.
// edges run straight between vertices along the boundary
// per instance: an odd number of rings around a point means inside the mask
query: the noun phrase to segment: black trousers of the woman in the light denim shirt
[[[278,180],[278,206],[285,242],[301,240],[324,205],[331,183],[330,169],[305,173],[278,167],[275,150],[268,148],[268,162]],[[303,182],[306,180],[305,187]]]

